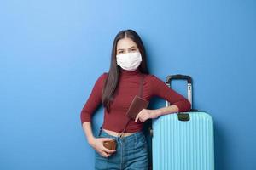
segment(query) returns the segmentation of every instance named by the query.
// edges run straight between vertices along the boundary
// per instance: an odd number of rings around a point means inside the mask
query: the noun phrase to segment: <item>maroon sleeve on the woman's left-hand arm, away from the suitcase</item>
[[[96,108],[102,104],[102,88],[104,81],[107,77],[107,73],[103,73],[95,82],[94,87],[90,93],[89,98],[87,99],[84,107],[80,113],[81,124],[84,122],[91,122],[91,116],[96,111]]]

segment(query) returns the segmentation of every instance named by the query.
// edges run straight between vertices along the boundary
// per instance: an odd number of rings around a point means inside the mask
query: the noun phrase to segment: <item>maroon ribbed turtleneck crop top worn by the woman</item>
[[[120,70],[119,86],[116,89],[117,94],[110,105],[110,112],[104,108],[104,122],[103,128],[120,132],[127,122],[128,117],[125,116],[132,99],[135,95],[139,94],[140,75],[142,73],[137,69],[136,71]],[[96,111],[99,105],[102,105],[102,88],[104,82],[108,77],[108,73],[103,73],[98,79],[89,98],[87,99],[81,111],[81,123],[91,122],[91,116]],[[184,98],[183,95],[178,94],[172,88],[166,86],[166,83],[161,81],[154,75],[145,75],[143,82],[143,99],[150,100],[153,96],[158,96],[162,99],[168,100],[172,105],[177,105],[179,111],[189,111],[189,100]],[[126,128],[126,133],[133,133],[140,131],[143,128],[143,122],[131,121]]]

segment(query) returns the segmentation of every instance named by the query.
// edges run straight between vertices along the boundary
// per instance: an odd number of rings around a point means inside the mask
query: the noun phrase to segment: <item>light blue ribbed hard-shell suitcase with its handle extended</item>
[[[188,99],[192,105],[191,77],[166,77],[166,84],[170,88],[173,79],[187,80]],[[214,169],[213,121],[206,112],[191,109],[189,112],[160,116],[153,120],[152,128],[154,170]]]

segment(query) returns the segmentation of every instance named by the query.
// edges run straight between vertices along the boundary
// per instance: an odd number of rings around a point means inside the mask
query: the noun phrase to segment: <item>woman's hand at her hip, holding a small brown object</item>
[[[113,154],[116,151],[116,150],[108,150],[108,148],[105,148],[103,146],[103,142],[104,141],[109,141],[109,140],[112,140],[112,139],[110,139],[110,138],[93,138],[93,139],[90,140],[89,144],[100,155],[102,155],[104,157],[108,157],[108,156],[111,156],[111,154]]]

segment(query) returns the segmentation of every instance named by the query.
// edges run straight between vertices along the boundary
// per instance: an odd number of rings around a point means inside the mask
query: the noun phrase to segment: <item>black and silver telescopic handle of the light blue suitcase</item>
[[[166,85],[171,88],[171,82],[172,80],[187,80],[187,85],[188,85],[188,100],[191,104],[191,110],[192,110],[192,78],[189,77],[188,75],[181,75],[181,74],[176,74],[176,75],[169,75],[166,77]],[[166,106],[169,106],[170,102],[166,101]]]

